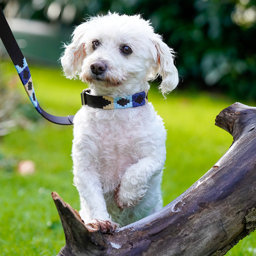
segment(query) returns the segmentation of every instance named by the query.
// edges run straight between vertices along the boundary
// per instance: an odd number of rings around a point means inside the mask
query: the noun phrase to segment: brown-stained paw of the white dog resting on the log
[[[110,233],[112,234],[114,230],[119,228],[119,224],[112,222],[110,220],[92,220],[90,223],[86,224],[89,231],[95,232],[99,229],[102,234]]]

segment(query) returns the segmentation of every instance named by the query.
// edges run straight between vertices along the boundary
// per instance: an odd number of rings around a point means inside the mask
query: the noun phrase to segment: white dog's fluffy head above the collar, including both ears
[[[178,84],[174,51],[140,15],[108,13],[75,28],[61,57],[67,78],[90,83],[97,94],[123,96],[147,90],[162,77],[163,94]]]

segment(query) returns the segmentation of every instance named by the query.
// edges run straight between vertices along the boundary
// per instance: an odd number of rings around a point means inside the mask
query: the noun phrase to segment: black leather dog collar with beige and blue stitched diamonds
[[[90,89],[84,89],[81,92],[82,105],[88,105],[93,108],[120,109],[134,108],[148,103],[148,90],[145,92],[127,95],[125,98],[110,96],[98,96],[90,94]]]

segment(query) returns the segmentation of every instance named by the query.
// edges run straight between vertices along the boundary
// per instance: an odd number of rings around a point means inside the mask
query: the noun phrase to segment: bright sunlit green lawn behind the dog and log
[[[7,73],[17,77],[11,63],[5,63],[5,67]],[[86,87],[83,83],[65,79],[57,69],[30,67],[30,71],[37,99],[46,111],[72,115],[80,108],[80,92]],[[182,84],[179,87],[167,100],[154,88],[149,93],[149,100],[168,130],[162,183],[165,205],[203,176],[232,143],[232,136],[216,127],[214,120],[234,100],[184,91]],[[17,90],[27,101],[22,86]],[[72,185],[71,142],[72,126],[44,120],[30,129],[16,129],[1,139],[0,160],[2,155],[10,163],[29,159],[36,164],[36,172],[27,176],[18,174],[16,167],[0,168],[1,255],[56,255],[65,244],[51,192],[57,191],[79,209],[78,193]],[[254,232],[227,255],[256,255],[255,238]]]

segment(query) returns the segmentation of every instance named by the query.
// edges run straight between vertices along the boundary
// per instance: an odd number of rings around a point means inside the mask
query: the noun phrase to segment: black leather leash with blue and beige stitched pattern
[[[26,59],[24,58],[14,36],[11,31],[11,28],[5,18],[5,15],[3,13],[3,10],[0,7],[0,38],[5,46],[5,49],[7,50],[11,60],[13,61],[13,64],[15,65],[15,68],[18,72],[18,75],[20,77],[20,80],[28,94],[28,97],[30,98],[30,101],[34,105],[37,112],[42,115],[45,119],[52,123],[56,123],[59,125],[71,125],[73,124],[73,115],[68,115],[65,117],[62,116],[55,116],[51,115],[47,112],[45,112],[39,105],[35,90],[33,87],[33,82],[31,78],[31,74],[28,68],[28,64],[26,62]]]

